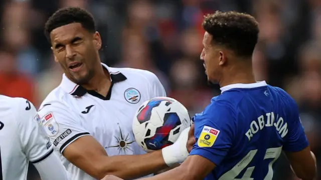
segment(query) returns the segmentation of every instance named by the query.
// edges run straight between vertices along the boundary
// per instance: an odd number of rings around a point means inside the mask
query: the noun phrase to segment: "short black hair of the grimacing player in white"
[[[72,23],[80,23],[87,31],[94,33],[95,21],[93,16],[84,9],[67,7],[56,11],[45,24],[45,35],[50,42],[50,33],[61,26]]]

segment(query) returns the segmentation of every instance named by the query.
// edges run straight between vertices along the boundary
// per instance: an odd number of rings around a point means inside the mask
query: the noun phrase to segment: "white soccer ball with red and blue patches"
[[[155,97],[139,107],[132,131],[136,142],[150,152],[173,144],[190,126],[191,118],[183,104],[173,98]]]

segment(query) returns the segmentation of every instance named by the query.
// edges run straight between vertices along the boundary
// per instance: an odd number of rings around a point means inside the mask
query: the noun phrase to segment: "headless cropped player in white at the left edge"
[[[34,105],[24,98],[0,95],[0,179],[26,179],[29,161],[43,180],[69,179]]]

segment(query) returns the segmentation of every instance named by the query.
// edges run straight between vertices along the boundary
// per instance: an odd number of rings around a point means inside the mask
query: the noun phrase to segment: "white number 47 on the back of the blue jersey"
[[[252,175],[252,172],[253,172],[255,166],[248,167],[246,169],[246,171],[244,172],[243,176],[240,179],[239,178],[235,178],[235,177],[237,177],[241,173],[241,171],[244,168],[247,167],[247,165],[252,161],[252,159],[255,156],[256,152],[257,152],[257,149],[249,151],[249,153],[247,153],[247,155],[244,156],[240,160],[240,162],[238,162],[231,170],[229,170],[226,173],[224,173],[219,178],[219,180],[226,180],[226,179],[230,179],[230,180],[236,180],[236,179],[237,180],[253,180],[251,175]],[[275,147],[275,148],[266,149],[264,159],[273,158],[273,160],[268,164],[268,171],[267,171],[267,174],[266,174],[264,180],[272,180],[272,178],[273,178],[272,165],[277,160],[277,158],[280,156],[281,152],[282,152],[282,147]]]

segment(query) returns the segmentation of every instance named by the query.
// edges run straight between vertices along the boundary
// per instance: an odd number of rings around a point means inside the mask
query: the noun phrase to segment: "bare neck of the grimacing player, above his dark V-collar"
[[[99,68],[96,68],[94,77],[89,81],[89,83],[82,86],[87,90],[94,90],[99,94],[106,96],[110,85],[111,80],[109,72],[100,65]]]

